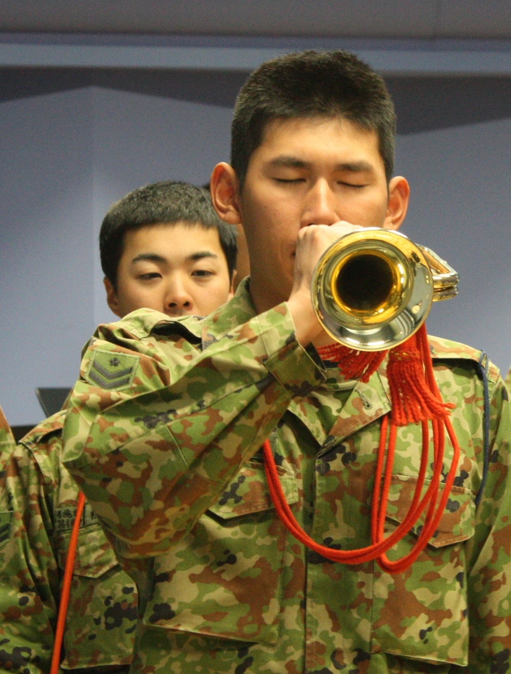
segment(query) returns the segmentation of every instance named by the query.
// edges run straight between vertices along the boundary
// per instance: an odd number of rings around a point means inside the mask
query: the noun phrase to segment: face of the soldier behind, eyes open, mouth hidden
[[[105,279],[108,306],[119,317],[135,309],[168,316],[206,316],[232,297],[215,228],[156,224],[128,232],[117,288]]]

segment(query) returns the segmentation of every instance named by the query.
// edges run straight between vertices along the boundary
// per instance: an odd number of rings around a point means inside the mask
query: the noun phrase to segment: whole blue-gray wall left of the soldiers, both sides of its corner
[[[0,404],[11,425],[43,415],[34,389],[73,384],[83,343],[114,319],[98,233],[135,187],[203,184],[228,158],[226,108],[99,88],[0,105]]]

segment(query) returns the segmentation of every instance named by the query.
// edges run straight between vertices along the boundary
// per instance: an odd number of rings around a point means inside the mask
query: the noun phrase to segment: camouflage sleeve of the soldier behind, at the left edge
[[[57,621],[59,572],[50,542],[46,483],[22,446],[0,472],[0,671],[48,672]]]

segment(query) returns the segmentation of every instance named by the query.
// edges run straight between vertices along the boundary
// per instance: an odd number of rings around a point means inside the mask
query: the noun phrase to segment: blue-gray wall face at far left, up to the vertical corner
[[[92,106],[69,92],[0,106],[0,400],[38,421],[34,389],[65,386],[90,331]]]

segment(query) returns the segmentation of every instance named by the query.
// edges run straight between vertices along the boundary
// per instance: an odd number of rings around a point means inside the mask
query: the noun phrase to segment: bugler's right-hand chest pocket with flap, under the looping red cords
[[[386,535],[405,518],[415,484],[414,478],[393,476]],[[436,665],[467,665],[469,620],[464,543],[473,536],[474,518],[471,491],[453,487],[436,534],[411,568],[390,575],[375,563],[372,652]],[[409,552],[417,534],[415,527],[388,553],[389,559]]]

